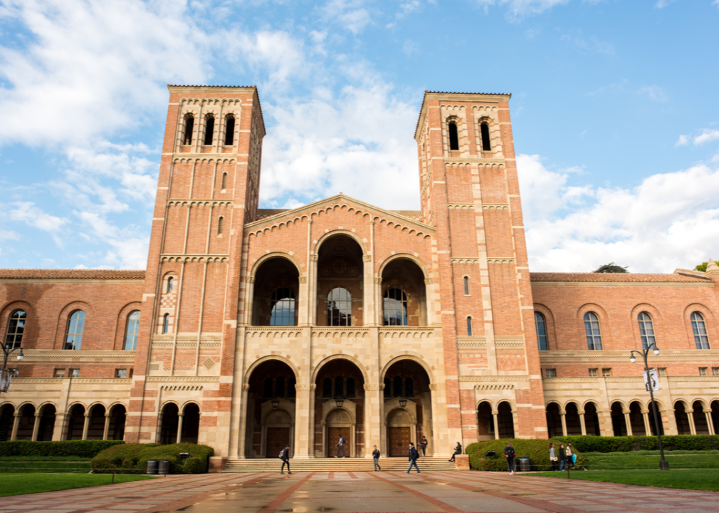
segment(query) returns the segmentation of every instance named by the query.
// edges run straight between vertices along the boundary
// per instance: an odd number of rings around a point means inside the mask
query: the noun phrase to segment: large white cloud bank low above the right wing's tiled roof
[[[614,261],[672,272],[719,255],[719,169],[696,165],[633,189],[585,186],[537,155],[517,160],[533,271],[591,271]]]

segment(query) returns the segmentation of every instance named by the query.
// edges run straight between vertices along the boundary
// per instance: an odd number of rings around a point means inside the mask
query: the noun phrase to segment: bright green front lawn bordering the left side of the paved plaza
[[[115,476],[115,483],[142,481],[150,476]],[[68,490],[110,484],[111,474],[2,474],[0,475],[0,497],[9,495],[39,494],[42,491]]]

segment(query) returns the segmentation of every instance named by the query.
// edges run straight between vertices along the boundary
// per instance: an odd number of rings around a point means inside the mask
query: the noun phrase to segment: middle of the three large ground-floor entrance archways
[[[362,371],[347,358],[334,358],[321,366],[315,383],[315,455],[334,455],[340,436],[346,442],[345,454],[354,457],[364,453],[365,377]]]

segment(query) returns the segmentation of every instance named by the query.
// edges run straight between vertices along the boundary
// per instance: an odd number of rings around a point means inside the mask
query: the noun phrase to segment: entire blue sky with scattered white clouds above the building
[[[0,0],[0,267],[145,268],[167,83],[257,85],[262,208],[418,209],[423,91],[513,94],[532,271],[719,258],[719,0]]]

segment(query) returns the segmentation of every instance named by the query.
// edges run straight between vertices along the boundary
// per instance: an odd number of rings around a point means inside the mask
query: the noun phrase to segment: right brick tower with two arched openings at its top
[[[509,99],[426,91],[415,132],[423,217],[437,229],[449,438],[466,443],[547,436]]]

